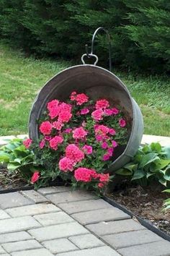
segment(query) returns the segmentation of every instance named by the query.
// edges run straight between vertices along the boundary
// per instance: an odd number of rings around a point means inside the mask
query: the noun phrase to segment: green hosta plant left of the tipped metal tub
[[[0,163],[7,164],[10,172],[19,170],[24,179],[30,179],[35,170],[34,155],[22,144],[21,139],[10,140],[7,145],[0,148]]]

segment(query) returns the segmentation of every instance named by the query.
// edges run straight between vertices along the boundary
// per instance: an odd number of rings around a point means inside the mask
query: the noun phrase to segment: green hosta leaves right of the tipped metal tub
[[[140,147],[130,163],[116,171],[117,175],[129,177],[142,187],[159,182],[170,185],[170,148],[162,148],[159,143]]]

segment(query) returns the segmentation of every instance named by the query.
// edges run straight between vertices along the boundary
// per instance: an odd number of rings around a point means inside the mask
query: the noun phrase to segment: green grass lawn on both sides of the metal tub
[[[27,133],[35,96],[54,74],[69,67],[64,61],[24,58],[0,43],[0,136]],[[115,72],[128,86],[144,117],[145,134],[170,135],[170,82],[167,77],[142,77]]]

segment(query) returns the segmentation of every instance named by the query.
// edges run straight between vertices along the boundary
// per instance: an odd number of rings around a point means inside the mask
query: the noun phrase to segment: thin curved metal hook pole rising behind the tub
[[[109,71],[112,72],[112,59],[111,59],[111,40],[110,40],[110,36],[109,36],[109,32],[108,30],[106,30],[104,27],[98,27],[97,30],[94,31],[94,34],[93,34],[93,37],[92,37],[92,40],[91,40],[91,53],[89,54],[89,51],[88,51],[88,45],[86,44],[85,45],[85,48],[86,48],[86,55],[88,56],[88,58],[90,58],[91,54],[93,55],[94,53],[94,39],[97,35],[97,33],[99,32],[99,30],[103,30],[106,34],[107,34],[107,39],[108,39],[108,44],[109,44]]]

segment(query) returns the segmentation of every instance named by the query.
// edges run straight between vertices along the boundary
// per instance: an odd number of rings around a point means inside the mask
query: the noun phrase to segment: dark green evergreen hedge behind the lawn
[[[169,10],[167,0],[0,0],[0,37],[29,54],[76,59],[103,26],[115,66],[163,73],[170,66]],[[102,33],[94,50],[108,58]]]

